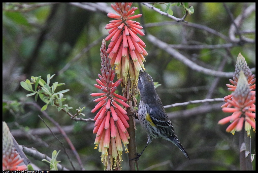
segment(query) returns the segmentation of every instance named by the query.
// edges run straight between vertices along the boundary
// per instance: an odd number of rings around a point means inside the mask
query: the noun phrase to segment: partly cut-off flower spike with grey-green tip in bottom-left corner
[[[13,139],[9,128],[5,122],[3,122],[3,170],[27,170],[26,165],[18,166],[23,162],[19,153],[15,151]]]

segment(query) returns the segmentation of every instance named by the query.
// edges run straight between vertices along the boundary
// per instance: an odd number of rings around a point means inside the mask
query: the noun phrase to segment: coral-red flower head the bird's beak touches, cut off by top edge
[[[111,4],[111,7],[119,15],[108,13],[107,16],[115,20],[111,20],[105,29],[110,29],[106,40],[112,39],[107,53],[109,53],[108,58],[111,59],[111,66],[116,66],[117,77],[123,78],[124,82],[130,77],[136,85],[139,71],[144,69],[143,61],[145,59],[143,56],[147,56],[148,53],[144,50],[145,43],[136,35],[137,33],[144,35],[141,31],[143,27],[139,22],[131,20],[141,17],[142,14],[131,16],[138,9],[137,7],[130,9],[131,5],[132,3]]]

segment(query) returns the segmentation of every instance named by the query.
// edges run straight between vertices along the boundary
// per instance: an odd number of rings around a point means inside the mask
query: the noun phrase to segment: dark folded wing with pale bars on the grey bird
[[[173,125],[166,115],[165,110],[159,108],[151,108],[150,118],[152,122],[168,135],[176,136]]]

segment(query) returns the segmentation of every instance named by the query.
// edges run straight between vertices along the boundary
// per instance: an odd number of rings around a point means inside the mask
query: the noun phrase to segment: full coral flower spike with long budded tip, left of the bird
[[[99,152],[102,153],[101,162],[103,162],[105,170],[120,170],[123,151],[121,140],[126,152],[128,152],[126,144],[128,144],[130,137],[127,135],[126,128],[129,128],[129,124],[127,123],[129,117],[126,115],[127,112],[116,102],[122,104],[124,107],[129,107],[129,105],[125,103],[127,101],[125,97],[114,93],[122,79],[113,83],[115,70],[112,70],[109,59],[107,58],[105,40],[102,41],[100,51],[100,70],[102,75],[99,74],[99,79],[96,79],[99,85],[94,84],[94,86],[101,89],[104,93],[91,94],[91,96],[101,96],[94,100],[94,102],[99,103],[91,111],[94,113],[101,107],[94,118],[95,128],[93,129],[93,133],[96,133],[95,149],[99,145]]]

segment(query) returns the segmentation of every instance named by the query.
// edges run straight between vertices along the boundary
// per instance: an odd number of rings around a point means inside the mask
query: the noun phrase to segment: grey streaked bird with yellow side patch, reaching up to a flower
[[[145,71],[140,71],[138,88],[141,94],[141,101],[138,108],[138,119],[142,128],[146,131],[149,137],[146,147],[151,143],[152,139],[163,138],[178,146],[178,148],[180,148],[184,155],[190,160],[183,145],[179,142],[173,125],[167,116],[158,94],[156,93],[152,77]],[[134,159],[138,159],[142,152]]]

